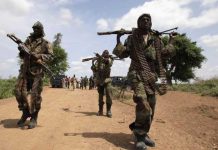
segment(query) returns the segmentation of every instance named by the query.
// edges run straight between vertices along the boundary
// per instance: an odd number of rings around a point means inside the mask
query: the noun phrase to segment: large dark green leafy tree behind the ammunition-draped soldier
[[[163,38],[166,45],[168,37]],[[201,68],[201,64],[206,58],[202,55],[203,49],[192,42],[186,34],[178,35],[174,39],[174,55],[166,60],[167,83],[172,85],[172,80],[187,82],[195,78],[194,69]]]

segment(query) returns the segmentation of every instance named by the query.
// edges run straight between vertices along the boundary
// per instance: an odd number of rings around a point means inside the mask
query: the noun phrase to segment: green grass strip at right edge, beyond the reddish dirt
[[[218,78],[201,80],[193,84],[177,84],[169,87],[169,90],[194,92],[202,96],[208,95],[218,97]]]

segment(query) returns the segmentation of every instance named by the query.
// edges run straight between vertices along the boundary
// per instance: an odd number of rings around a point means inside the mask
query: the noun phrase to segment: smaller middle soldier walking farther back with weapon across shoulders
[[[113,64],[113,59],[110,58],[108,50],[104,50],[101,56],[98,56],[98,59],[92,64],[92,71],[96,75],[96,84],[98,89],[98,105],[99,111],[98,116],[103,115],[103,96],[104,90],[106,93],[106,108],[107,108],[107,117],[112,117],[111,105],[112,105],[112,93],[111,93],[111,79],[110,72],[111,66]]]

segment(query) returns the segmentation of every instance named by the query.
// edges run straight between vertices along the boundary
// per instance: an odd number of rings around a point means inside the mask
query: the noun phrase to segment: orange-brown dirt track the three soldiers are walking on
[[[128,125],[134,104],[113,101],[113,118],[98,117],[96,90],[45,88],[38,126],[17,128],[15,98],[0,100],[0,150],[134,149]],[[169,92],[158,97],[150,136],[155,150],[218,150],[218,99]]]

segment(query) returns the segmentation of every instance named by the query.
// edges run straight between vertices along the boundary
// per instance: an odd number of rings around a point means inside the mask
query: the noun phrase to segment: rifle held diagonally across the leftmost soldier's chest
[[[25,46],[25,44],[24,44],[19,38],[17,38],[14,34],[7,34],[7,36],[8,36],[10,39],[12,39],[15,43],[18,44],[18,47],[19,47],[19,51],[20,51],[20,52],[23,52],[23,53],[25,53],[25,55],[31,56],[31,57],[37,59],[36,56],[33,55],[33,54],[30,52],[30,50]],[[42,68],[43,68],[52,78],[54,78],[54,74],[53,74],[53,72],[48,68],[48,66],[46,66],[46,65],[43,64],[43,63],[40,63],[40,65],[42,66]]]

